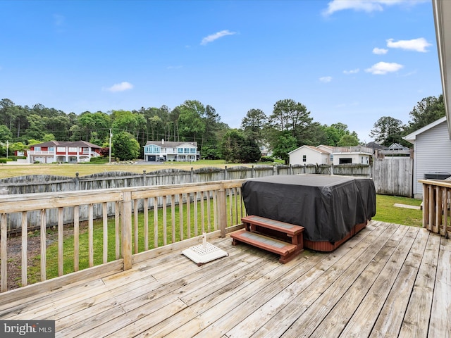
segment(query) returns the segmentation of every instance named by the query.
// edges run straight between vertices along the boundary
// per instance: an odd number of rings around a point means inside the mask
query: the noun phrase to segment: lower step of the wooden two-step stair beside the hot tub
[[[249,232],[245,229],[232,232],[230,237],[233,238],[233,245],[237,245],[242,242],[252,246],[257,246],[257,248],[264,249],[266,251],[278,253],[280,255],[279,262],[283,264],[290,261],[299,252],[297,250],[297,245],[295,244],[279,241],[278,239],[266,237],[255,232]]]

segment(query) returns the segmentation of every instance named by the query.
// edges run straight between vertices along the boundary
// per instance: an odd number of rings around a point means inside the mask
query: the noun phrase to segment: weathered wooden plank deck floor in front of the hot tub
[[[451,337],[451,242],[438,234],[373,221],[286,264],[230,237],[210,242],[229,256],[198,267],[173,251],[54,292],[0,295],[0,319],[56,320],[56,337]]]

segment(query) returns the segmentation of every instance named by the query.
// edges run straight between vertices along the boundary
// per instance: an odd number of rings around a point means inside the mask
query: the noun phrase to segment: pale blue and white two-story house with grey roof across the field
[[[197,142],[147,141],[144,146],[144,161],[199,161]]]

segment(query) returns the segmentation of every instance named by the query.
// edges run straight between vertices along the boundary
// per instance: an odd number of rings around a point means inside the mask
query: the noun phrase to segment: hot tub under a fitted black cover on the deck
[[[333,251],[376,214],[370,178],[275,175],[247,180],[242,197],[248,215],[302,225],[304,247]]]

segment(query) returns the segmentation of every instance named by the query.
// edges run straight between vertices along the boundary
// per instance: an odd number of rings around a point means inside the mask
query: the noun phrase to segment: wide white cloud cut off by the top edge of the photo
[[[413,6],[426,0],[332,0],[328,3],[328,8],[323,11],[323,15],[332,15],[338,11],[352,9],[354,11],[364,11],[371,13],[383,11],[385,6],[402,5]]]

